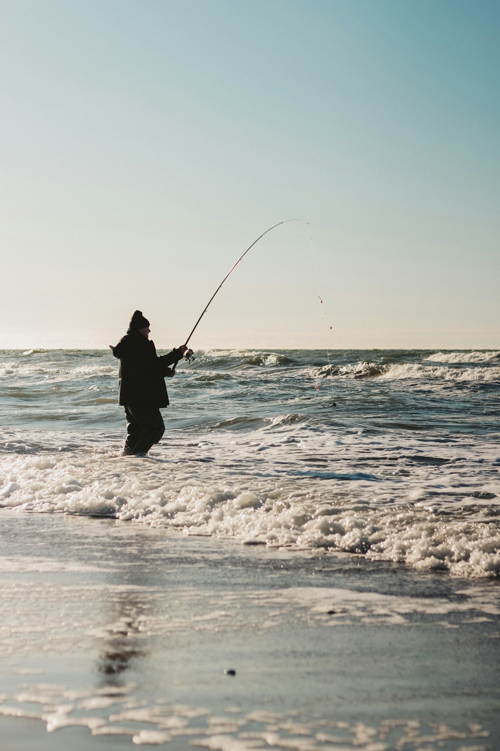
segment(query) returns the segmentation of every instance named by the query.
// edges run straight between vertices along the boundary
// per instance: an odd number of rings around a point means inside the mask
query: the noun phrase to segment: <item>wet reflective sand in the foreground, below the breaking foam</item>
[[[498,581],[88,517],[0,535],[1,751],[500,745]]]

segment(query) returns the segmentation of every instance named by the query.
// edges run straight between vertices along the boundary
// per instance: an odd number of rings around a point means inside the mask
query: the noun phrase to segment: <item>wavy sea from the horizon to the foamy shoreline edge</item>
[[[500,573],[500,351],[196,351],[121,457],[107,351],[1,351],[0,506]]]

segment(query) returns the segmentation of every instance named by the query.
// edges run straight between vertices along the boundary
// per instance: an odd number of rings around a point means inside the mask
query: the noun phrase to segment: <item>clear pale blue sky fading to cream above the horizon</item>
[[[500,348],[498,0],[1,0],[0,348]],[[306,224],[308,222],[308,224]]]

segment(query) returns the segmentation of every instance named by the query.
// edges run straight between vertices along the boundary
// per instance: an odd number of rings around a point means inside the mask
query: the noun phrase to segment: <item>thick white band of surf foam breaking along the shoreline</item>
[[[292,449],[301,451],[295,444]],[[272,449],[275,457],[289,450],[286,442]],[[340,488],[332,495],[331,486],[328,501],[321,472],[317,478],[306,472],[307,484],[301,490],[293,476],[274,481],[240,472],[235,476],[229,467],[221,479],[219,466],[204,466],[200,474],[199,465],[190,461],[23,454],[4,460],[5,467],[1,503],[23,511],[112,516],[247,544],[364,553],[371,559],[461,576],[500,574],[500,530],[488,521],[487,508],[476,505],[470,520],[442,517],[439,508],[446,506],[436,490],[428,495],[422,485],[410,484],[406,492],[415,500],[406,502],[405,508],[393,508],[390,496],[383,499],[383,493],[376,502],[376,476],[364,473],[325,475],[330,482],[349,482],[355,499],[349,501]],[[420,472],[427,472],[426,467]],[[438,466],[437,471],[445,480],[444,470]],[[450,481],[454,482],[454,469]]]

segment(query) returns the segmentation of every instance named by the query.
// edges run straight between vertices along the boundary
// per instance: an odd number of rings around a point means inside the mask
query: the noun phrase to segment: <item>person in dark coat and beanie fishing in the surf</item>
[[[127,418],[127,440],[122,456],[145,455],[154,443],[159,443],[165,432],[160,408],[169,406],[165,378],[175,370],[170,365],[178,363],[187,347],[172,349],[169,354],[156,354],[154,342],[149,339],[149,321],[136,310],[125,336],[118,344],[109,345],[118,358],[118,403],[124,406]]]

